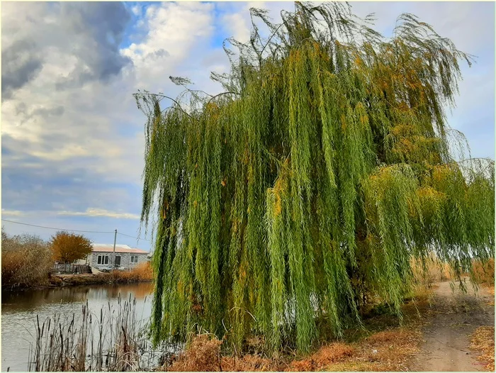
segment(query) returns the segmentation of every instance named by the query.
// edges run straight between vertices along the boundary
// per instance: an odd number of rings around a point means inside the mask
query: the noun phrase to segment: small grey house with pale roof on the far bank
[[[147,262],[148,252],[135,249],[128,245],[115,245],[115,258],[113,244],[94,243],[93,251],[89,255],[89,264],[96,269],[108,268],[109,266],[131,269],[142,262]]]

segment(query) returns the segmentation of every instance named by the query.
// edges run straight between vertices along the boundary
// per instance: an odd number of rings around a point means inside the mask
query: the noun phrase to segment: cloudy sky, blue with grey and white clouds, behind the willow
[[[495,158],[495,4],[492,2],[352,2],[376,13],[390,35],[396,17],[414,13],[455,45],[478,56],[463,65],[453,128],[473,157]],[[198,89],[220,87],[227,71],[222,40],[246,40],[252,6],[278,19],[283,2],[1,4],[1,218],[69,230],[139,228],[145,117],[137,89],[179,94],[168,77]],[[7,233],[50,238],[55,230],[2,221]],[[113,233],[85,233],[113,243]],[[142,233],[142,238],[145,238]],[[149,238],[149,237],[147,237]],[[150,249],[145,240],[118,243]]]

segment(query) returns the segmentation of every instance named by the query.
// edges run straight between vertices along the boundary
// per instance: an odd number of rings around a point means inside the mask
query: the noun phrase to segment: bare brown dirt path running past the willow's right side
[[[475,295],[467,279],[467,293],[456,285],[453,294],[449,282],[434,290],[432,322],[423,330],[421,352],[414,357],[412,371],[478,372],[484,366],[470,350],[470,335],[483,325],[495,325],[495,298],[480,287]],[[491,305],[492,304],[492,305]]]

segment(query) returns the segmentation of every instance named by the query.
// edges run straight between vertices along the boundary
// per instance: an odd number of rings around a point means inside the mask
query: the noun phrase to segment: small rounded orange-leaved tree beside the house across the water
[[[91,241],[84,235],[57,232],[50,239],[53,257],[57,262],[71,263],[84,259],[93,250]]]

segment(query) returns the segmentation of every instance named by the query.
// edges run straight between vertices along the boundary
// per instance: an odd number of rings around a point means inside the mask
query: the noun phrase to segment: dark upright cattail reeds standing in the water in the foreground
[[[92,313],[84,304],[78,315],[36,318],[30,347],[30,372],[137,372],[163,364],[179,345],[153,347],[149,324],[137,318],[136,301],[118,297],[116,307]]]

